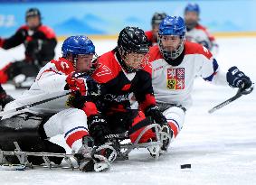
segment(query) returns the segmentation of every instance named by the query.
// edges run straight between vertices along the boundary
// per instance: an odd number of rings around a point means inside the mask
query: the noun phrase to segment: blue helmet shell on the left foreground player
[[[95,46],[86,36],[71,36],[62,44],[62,56],[66,57],[68,54],[95,54]]]

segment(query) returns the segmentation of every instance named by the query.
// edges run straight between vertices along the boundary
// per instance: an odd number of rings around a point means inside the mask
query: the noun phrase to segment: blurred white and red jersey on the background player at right
[[[218,44],[213,35],[211,35],[204,26],[197,24],[193,29],[185,33],[186,41],[202,44],[210,50],[215,56],[218,53]]]

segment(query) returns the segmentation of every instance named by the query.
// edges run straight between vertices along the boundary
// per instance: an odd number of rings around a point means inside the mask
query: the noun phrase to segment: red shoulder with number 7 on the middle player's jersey
[[[93,72],[92,78],[99,83],[106,83],[118,76],[121,71],[115,50],[102,54],[98,59],[98,68]]]

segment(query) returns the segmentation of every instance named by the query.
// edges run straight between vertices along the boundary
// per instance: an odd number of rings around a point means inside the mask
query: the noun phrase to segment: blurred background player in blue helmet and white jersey
[[[185,25],[186,40],[188,42],[196,42],[202,44],[205,48],[212,52],[213,56],[218,54],[219,46],[210,32],[199,23],[200,8],[197,4],[188,4],[185,6]]]

